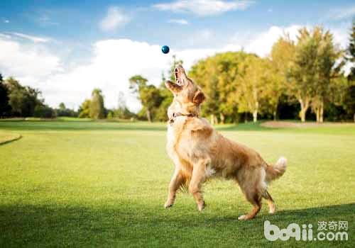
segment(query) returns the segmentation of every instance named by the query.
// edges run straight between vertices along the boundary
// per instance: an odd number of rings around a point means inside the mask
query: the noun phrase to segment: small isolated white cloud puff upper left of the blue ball
[[[107,11],[107,16],[100,23],[100,27],[104,31],[114,30],[120,26],[124,26],[129,22],[129,16],[127,16],[118,7],[110,7]]]

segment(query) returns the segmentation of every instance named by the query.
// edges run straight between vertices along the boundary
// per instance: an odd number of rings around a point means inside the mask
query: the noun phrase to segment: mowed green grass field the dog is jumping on
[[[254,220],[234,181],[204,186],[207,208],[188,193],[163,208],[173,163],[165,124],[91,121],[0,121],[20,140],[0,145],[0,247],[343,247],[355,246],[355,125],[268,129],[219,127],[267,162],[288,158]],[[349,222],[348,241],[270,242],[263,222]]]

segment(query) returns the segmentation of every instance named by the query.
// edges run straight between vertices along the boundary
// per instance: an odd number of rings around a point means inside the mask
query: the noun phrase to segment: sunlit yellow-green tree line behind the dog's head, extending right
[[[340,50],[329,30],[301,28],[297,40],[280,37],[271,55],[224,52],[195,63],[189,77],[202,86],[206,101],[202,115],[212,123],[238,123],[258,118],[355,121],[355,25],[349,46]],[[344,75],[344,65],[351,71]],[[182,61],[175,60],[173,68]],[[174,80],[174,79],[173,79]],[[166,120],[171,94],[162,82],[155,87],[135,75],[129,79],[148,120]],[[162,77],[165,81],[165,77]]]

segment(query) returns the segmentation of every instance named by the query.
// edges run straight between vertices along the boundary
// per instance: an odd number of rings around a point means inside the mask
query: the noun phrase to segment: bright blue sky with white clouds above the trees
[[[108,107],[123,91],[136,110],[129,74],[158,84],[173,54],[186,67],[225,50],[263,57],[283,32],[315,25],[344,47],[354,15],[344,0],[0,1],[0,72],[41,89],[51,106],[77,107],[99,87]]]

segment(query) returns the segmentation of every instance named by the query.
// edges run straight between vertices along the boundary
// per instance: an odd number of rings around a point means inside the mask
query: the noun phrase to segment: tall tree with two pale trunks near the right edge
[[[338,77],[335,65],[340,52],[334,47],[329,31],[315,27],[311,32],[302,28],[299,33],[289,74],[293,79],[290,89],[300,102],[302,122],[310,106],[317,122],[323,122],[324,102],[332,91],[332,79]]]

